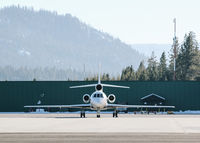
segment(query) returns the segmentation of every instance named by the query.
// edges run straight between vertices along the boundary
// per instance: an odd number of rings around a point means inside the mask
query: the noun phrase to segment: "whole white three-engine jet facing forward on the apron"
[[[95,87],[95,92],[91,94],[83,95],[83,102],[85,104],[74,104],[74,105],[27,105],[25,108],[79,108],[81,109],[80,117],[85,117],[85,109],[96,110],[97,118],[100,118],[100,111],[107,109],[114,109],[113,117],[118,117],[118,108],[175,108],[174,106],[152,106],[152,105],[121,105],[112,104],[115,102],[115,95],[110,94],[106,96],[103,92],[103,87],[115,87],[115,88],[129,88],[127,86],[118,86],[110,84],[102,84],[100,80],[100,74],[98,76],[97,84],[72,86],[70,88],[83,88],[83,87]],[[110,104],[111,103],[111,104]]]

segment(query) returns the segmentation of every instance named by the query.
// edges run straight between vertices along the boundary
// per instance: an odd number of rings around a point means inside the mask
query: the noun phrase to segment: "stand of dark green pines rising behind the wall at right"
[[[176,52],[173,47],[169,51],[170,59],[167,64],[166,53],[163,52],[157,61],[154,54],[148,59],[148,65],[144,62],[135,71],[132,66],[126,67],[121,74],[121,80],[142,81],[170,81],[170,80],[200,80],[200,50],[194,32],[185,35],[183,44],[179,44],[178,38]],[[174,59],[176,61],[174,74]]]

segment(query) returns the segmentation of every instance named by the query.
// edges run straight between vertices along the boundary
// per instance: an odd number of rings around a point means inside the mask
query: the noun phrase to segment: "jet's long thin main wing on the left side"
[[[90,108],[90,104],[74,105],[26,105],[24,108]]]

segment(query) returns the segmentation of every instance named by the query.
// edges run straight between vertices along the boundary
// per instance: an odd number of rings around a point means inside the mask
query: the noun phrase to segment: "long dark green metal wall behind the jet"
[[[0,82],[0,112],[22,112],[24,105],[79,104],[82,96],[91,94],[94,88],[70,89],[72,85],[96,82],[82,81],[2,81]],[[116,103],[141,104],[140,98],[155,93],[166,98],[165,105],[176,110],[200,110],[200,82],[105,82],[126,85],[130,89],[104,87],[104,92],[115,94]]]

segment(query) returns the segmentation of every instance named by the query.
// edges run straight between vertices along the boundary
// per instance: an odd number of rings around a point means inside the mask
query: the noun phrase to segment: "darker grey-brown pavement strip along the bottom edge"
[[[0,143],[199,143],[199,134],[0,133]]]

